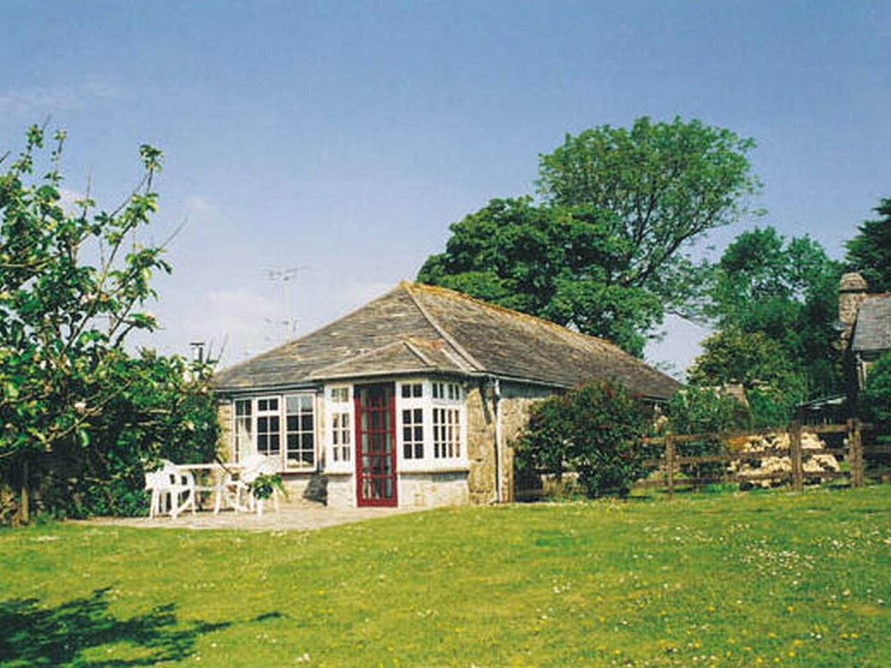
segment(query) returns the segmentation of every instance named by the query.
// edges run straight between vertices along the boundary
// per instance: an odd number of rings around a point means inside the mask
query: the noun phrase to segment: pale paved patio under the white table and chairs
[[[215,515],[211,510],[181,513],[173,519],[167,515],[160,517],[95,517],[84,520],[92,525],[136,526],[151,529],[238,529],[241,531],[312,531],[325,526],[344,525],[351,522],[364,522],[379,517],[421,509],[399,508],[327,508],[318,503],[286,502],[281,509],[266,509],[263,516],[257,513],[222,510]]]

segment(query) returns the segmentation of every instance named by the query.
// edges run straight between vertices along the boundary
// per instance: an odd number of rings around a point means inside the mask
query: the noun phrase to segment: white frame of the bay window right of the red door
[[[403,396],[402,387],[421,385],[422,395],[414,392],[411,396]],[[434,396],[436,395],[436,396]],[[423,456],[405,457],[405,422],[403,411],[421,409],[423,418]],[[434,444],[434,411],[454,411],[452,416],[457,420],[454,428],[457,437],[453,448],[453,456],[437,457]],[[412,421],[414,426],[414,420]],[[437,470],[466,469],[467,460],[467,409],[465,407],[465,392],[461,383],[445,379],[403,379],[396,381],[396,448],[397,464],[400,471],[405,472],[436,472]],[[414,454],[414,452],[412,452]]]

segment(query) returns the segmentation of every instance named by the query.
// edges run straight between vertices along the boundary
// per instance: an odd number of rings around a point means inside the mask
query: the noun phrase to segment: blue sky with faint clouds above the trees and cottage
[[[51,116],[71,191],[89,178],[110,207],[139,144],[165,151],[147,238],[186,224],[147,342],[225,342],[224,364],[413,278],[587,127],[679,115],[753,137],[760,224],[834,257],[891,196],[887,1],[3,0],[0,63],[0,153]],[[704,333],[670,323],[648,357],[683,371]]]

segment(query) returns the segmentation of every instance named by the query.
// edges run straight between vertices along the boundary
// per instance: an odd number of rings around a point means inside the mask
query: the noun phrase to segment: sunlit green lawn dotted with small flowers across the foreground
[[[889,577],[891,485],[315,533],[36,526],[0,532],[0,666],[879,668]]]

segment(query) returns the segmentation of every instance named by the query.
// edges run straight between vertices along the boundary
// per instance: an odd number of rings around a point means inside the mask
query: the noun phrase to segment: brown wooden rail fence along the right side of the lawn
[[[861,487],[867,480],[889,482],[891,444],[879,444],[878,433],[871,424],[847,420],[844,424],[792,424],[761,431],[653,436],[643,440],[648,454],[644,463],[650,475],[634,488],[664,490],[671,497],[679,489],[715,484],[790,485],[801,490],[807,484],[832,481],[854,487]],[[803,434],[818,436],[822,444],[803,447]],[[759,438],[762,444],[773,443],[757,448],[746,445]],[[831,455],[839,464],[838,470],[812,466],[811,462],[820,461],[821,455]],[[761,465],[767,460],[777,466],[764,470]],[[547,472],[542,475],[548,477]],[[534,485],[519,484],[515,498],[533,500],[541,493],[539,480]]]

